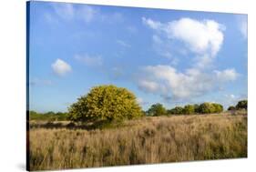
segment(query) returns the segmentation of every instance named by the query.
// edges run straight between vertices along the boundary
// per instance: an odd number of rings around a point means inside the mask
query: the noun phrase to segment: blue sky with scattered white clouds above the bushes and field
[[[29,108],[67,107],[99,85],[144,110],[247,99],[247,15],[30,2]]]

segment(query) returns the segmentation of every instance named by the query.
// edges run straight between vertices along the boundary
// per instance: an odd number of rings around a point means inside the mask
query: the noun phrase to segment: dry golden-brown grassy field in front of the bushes
[[[88,129],[31,122],[31,170],[247,157],[247,116],[151,116]]]

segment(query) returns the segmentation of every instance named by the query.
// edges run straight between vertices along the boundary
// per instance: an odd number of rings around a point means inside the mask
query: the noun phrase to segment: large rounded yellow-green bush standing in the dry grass
[[[142,116],[136,96],[126,88],[112,85],[93,87],[69,106],[68,111],[73,121],[113,121]]]

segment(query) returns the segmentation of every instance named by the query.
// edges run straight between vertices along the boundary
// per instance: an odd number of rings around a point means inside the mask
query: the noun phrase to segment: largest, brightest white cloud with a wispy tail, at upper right
[[[223,25],[214,20],[198,21],[190,18],[181,18],[162,24],[159,21],[142,18],[144,24],[159,32],[165,33],[169,39],[178,39],[185,43],[190,51],[196,54],[210,53],[216,56],[222,45],[225,30]]]

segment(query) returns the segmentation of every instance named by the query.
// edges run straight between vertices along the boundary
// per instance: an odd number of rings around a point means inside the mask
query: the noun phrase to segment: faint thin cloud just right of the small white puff
[[[101,56],[76,55],[75,59],[86,66],[102,66],[103,64]]]

